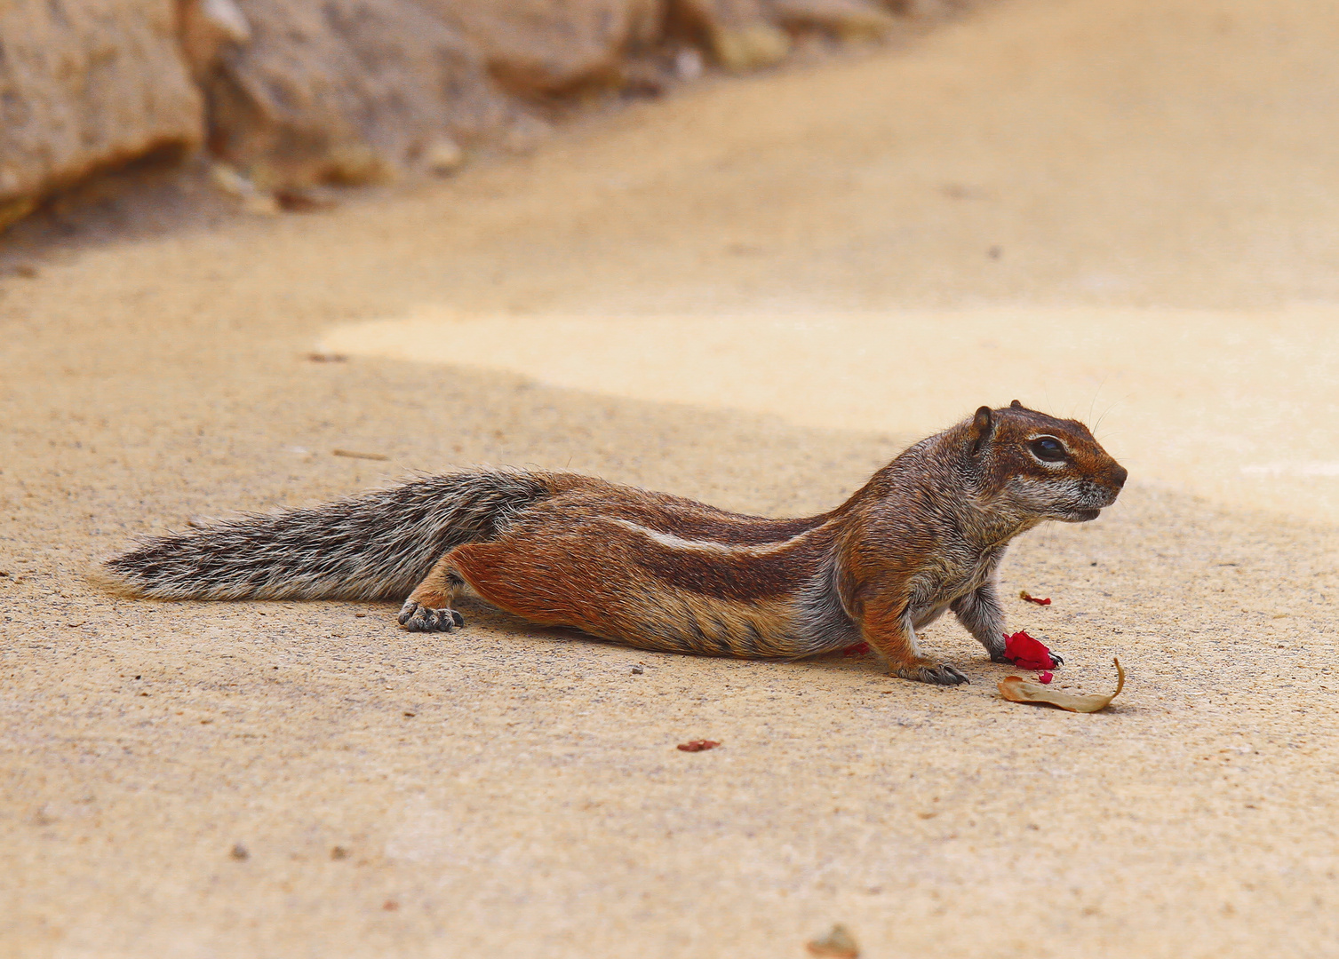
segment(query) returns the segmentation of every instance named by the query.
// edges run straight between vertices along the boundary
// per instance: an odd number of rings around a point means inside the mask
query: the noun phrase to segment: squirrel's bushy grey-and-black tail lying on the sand
[[[548,491],[522,471],[432,476],[146,540],[104,570],[163,599],[402,599],[447,550],[487,539]]]

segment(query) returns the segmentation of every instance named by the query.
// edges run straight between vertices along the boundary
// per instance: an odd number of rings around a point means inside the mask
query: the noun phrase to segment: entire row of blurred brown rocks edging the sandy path
[[[99,167],[201,142],[253,205],[449,174],[473,144],[533,146],[538,99],[695,76],[686,39],[746,71],[790,32],[894,24],[876,0],[0,0],[0,229]]]

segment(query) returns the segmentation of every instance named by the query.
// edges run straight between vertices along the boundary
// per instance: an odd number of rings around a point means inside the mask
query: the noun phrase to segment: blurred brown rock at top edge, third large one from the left
[[[522,94],[616,86],[628,51],[660,37],[661,0],[423,0]]]

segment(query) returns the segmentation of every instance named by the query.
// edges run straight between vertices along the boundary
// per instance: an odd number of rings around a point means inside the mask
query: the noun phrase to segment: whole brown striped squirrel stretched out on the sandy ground
[[[478,468],[244,515],[107,560],[165,599],[404,599],[412,631],[465,625],[463,587],[542,626],[641,649],[798,659],[865,642],[892,675],[952,686],[916,635],[952,610],[1004,658],[1000,559],[1083,523],[1126,480],[1082,423],[1018,400],[901,452],[836,510],[766,519],[569,472]]]

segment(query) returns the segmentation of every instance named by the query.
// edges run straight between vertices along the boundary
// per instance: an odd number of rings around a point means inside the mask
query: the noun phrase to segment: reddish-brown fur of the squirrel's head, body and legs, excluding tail
[[[1065,444],[1062,465],[1027,452],[1038,433]],[[1044,519],[1091,519],[1115,499],[1125,475],[1081,423],[1018,405],[983,408],[810,519],[740,516],[554,475],[552,495],[498,538],[447,554],[410,595],[402,621],[412,622],[414,607],[449,609],[469,584],[532,622],[635,646],[798,657],[862,638],[898,675],[960,682],[956,669],[920,655],[916,629],[952,609],[999,659],[1004,630],[994,574],[1008,540]],[[1059,511],[1071,515],[1048,515],[1034,502],[1055,484],[1079,499],[1077,511]],[[802,594],[828,570],[850,631],[815,633],[806,622],[811,610]]]

